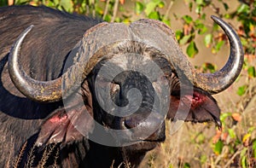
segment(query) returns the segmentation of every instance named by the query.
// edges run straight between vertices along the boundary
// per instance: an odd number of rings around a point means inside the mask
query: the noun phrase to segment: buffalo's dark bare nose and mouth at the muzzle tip
[[[165,121],[159,113],[135,113],[125,118],[125,129],[131,129],[132,139],[161,142],[166,138]]]

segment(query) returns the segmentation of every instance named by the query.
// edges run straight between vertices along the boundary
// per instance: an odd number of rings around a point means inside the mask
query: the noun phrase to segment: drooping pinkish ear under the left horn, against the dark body
[[[92,102],[87,86],[69,98],[68,106],[56,109],[41,125],[37,146],[82,140],[93,130]]]

